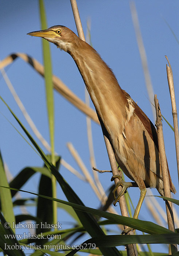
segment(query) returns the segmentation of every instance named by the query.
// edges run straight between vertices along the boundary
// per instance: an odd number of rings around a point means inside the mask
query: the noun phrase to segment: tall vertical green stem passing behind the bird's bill
[[[45,8],[43,0],[39,0],[40,7],[40,20],[42,30],[47,29]],[[48,124],[50,131],[50,144],[51,144],[51,162],[55,165],[55,145],[54,145],[54,98],[53,98],[53,83],[52,83],[52,65],[50,56],[50,45],[46,40],[42,39],[43,45],[43,60],[44,60],[44,74],[46,84],[46,101],[47,101],[47,112],[48,112]],[[52,174],[52,196],[57,197],[56,178]],[[57,202],[52,202],[53,206],[53,222],[57,223]]]

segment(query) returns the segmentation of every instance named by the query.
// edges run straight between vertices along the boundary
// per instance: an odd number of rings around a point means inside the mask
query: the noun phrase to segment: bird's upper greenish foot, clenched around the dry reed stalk
[[[111,181],[113,181],[115,178],[118,178],[119,181],[117,182],[116,187],[114,188],[114,190],[112,192],[113,196],[114,196],[114,202],[113,202],[114,206],[116,206],[117,201],[120,199],[120,197],[122,195],[124,195],[124,193],[127,191],[127,189],[129,187],[132,187],[132,183],[131,182],[125,182],[124,180],[122,180],[122,178],[121,178],[121,176],[119,174],[113,175],[112,178],[111,178]],[[116,197],[115,192],[116,192],[116,190],[117,190],[117,188],[119,186],[121,186],[122,189],[121,189],[120,193],[118,193],[118,195]]]

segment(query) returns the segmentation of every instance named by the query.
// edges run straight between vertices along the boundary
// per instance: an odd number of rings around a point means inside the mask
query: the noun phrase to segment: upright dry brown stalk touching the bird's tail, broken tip
[[[160,112],[159,101],[157,99],[156,94],[154,96],[154,102],[155,102],[155,108],[156,108],[156,127],[157,127],[157,138],[159,143],[160,163],[161,163],[162,177],[163,177],[164,196],[171,197],[170,183],[168,178],[167,158],[165,153],[163,129],[162,129],[162,115]],[[166,201],[166,211],[167,211],[168,228],[175,232],[174,216],[173,216],[171,202]],[[171,245],[171,252],[172,254],[174,252],[177,252],[177,245],[174,245],[174,244]]]

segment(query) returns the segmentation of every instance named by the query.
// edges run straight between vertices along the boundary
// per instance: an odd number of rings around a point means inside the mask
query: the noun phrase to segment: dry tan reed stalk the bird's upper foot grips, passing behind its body
[[[84,36],[84,33],[83,33],[82,24],[81,24],[81,19],[80,19],[79,12],[78,12],[77,2],[76,2],[76,0],[70,0],[70,2],[71,2],[71,7],[72,7],[72,10],[73,10],[73,14],[74,14],[74,19],[75,19],[77,31],[78,31],[78,36],[83,41],[85,41],[85,36]],[[112,146],[109,142],[108,137],[105,136],[105,131],[104,130],[103,130],[103,135],[104,135],[106,149],[108,151],[109,161],[110,161],[110,165],[111,165],[111,168],[112,168],[113,175],[118,174],[118,169],[117,169],[117,165],[116,165],[116,159],[115,159],[115,156],[114,156],[114,152],[113,152],[113,149],[112,149]],[[115,184],[117,184],[117,181],[118,181],[117,178],[114,179]],[[122,189],[121,187],[118,187],[117,193],[119,193],[121,189]],[[121,196],[121,198],[119,200],[119,204],[120,204],[120,208],[121,208],[121,214],[123,216],[128,217],[128,211],[127,211],[127,206],[126,206],[126,203],[125,203],[125,197],[124,196]],[[133,232],[131,231],[130,234],[133,234]],[[133,245],[133,244],[127,245],[127,253],[128,253],[128,256],[138,255],[136,245]]]

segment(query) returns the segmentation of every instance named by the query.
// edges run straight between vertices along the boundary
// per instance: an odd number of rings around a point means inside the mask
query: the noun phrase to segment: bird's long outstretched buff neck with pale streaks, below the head
[[[83,42],[83,41],[82,41]],[[84,43],[84,44],[83,44]],[[79,72],[85,82],[93,104],[100,117],[105,120],[124,116],[126,99],[116,77],[99,54],[86,42],[78,48],[73,48],[69,54],[73,57]],[[112,114],[111,114],[112,113]],[[115,121],[115,120],[114,120]]]

